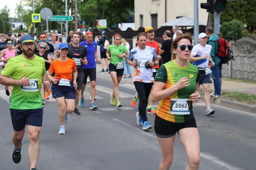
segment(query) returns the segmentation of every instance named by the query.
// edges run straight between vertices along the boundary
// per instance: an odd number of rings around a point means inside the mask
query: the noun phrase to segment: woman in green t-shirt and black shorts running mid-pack
[[[108,60],[110,60],[109,63],[109,74],[111,75],[112,81],[113,81],[113,94],[110,95],[110,104],[115,105],[115,99],[116,99],[116,107],[122,107],[120,101],[119,101],[119,90],[118,85],[123,77],[123,57],[126,59],[129,56],[128,50],[126,47],[121,43],[121,35],[116,34],[114,35],[114,42],[115,45],[109,45],[108,50],[106,52]],[[125,55],[124,55],[125,53]],[[109,56],[111,55],[111,57]]]

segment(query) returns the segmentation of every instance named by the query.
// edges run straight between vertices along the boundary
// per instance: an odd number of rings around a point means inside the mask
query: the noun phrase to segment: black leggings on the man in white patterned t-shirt
[[[148,96],[150,94],[153,83],[133,82],[137,94],[139,96],[139,112],[143,122],[148,121],[147,118],[147,105]]]

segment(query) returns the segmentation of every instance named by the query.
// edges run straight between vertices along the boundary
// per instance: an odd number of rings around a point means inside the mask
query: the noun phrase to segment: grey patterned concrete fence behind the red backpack
[[[229,43],[235,61],[223,65],[222,77],[256,81],[256,40],[244,37]]]

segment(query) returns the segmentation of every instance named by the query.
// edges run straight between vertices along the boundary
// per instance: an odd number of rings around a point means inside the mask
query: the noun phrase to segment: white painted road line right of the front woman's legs
[[[200,157],[208,160],[209,162],[211,162],[214,165],[217,165],[217,166],[223,168],[224,170],[243,170],[243,168],[232,165],[231,163],[223,162],[223,161],[219,160],[219,158],[217,158],[213,155],[210,155],[209,153],[200,152]]]

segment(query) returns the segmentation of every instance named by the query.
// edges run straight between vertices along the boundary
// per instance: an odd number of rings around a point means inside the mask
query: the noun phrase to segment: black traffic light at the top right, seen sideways
[[[226,6],[227,0],[207,0],[207,3],[200,4],[201,8],[206,9],[210,13],[226,11]]]

